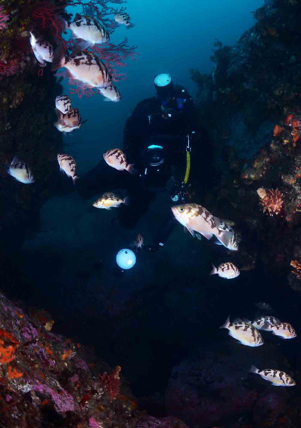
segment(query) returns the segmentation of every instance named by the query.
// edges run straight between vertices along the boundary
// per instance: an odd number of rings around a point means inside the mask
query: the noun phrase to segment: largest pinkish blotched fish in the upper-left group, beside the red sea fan
[[[75,51],[70,56],[66,56],[64,45],[59,45],[54,52],[51,69],[65,67],[68,75],[74,80],[79,80],[83,88],[105,88],[112,82],[106,66],[100,61],[97,55],[88,51]]]

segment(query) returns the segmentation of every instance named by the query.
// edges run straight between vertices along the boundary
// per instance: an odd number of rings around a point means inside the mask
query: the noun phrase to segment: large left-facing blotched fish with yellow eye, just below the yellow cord
[[[206,208],[197,204],[174,205],[171,207],[174,217],[183,224],[192,236],[195,232],[201,233],[205,238],[211,239],[214,235],[221,244],[228,248],[234,234],[230,231],[219,230],[220,220],[213,217]]]

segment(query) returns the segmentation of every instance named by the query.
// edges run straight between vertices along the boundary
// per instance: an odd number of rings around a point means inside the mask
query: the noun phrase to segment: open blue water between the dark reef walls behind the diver
[[[113,5],[123,6],[123,5]],[[127,30],[120,25],[111,36],[114,43],[128,38],[129,45],[138,45],[136,61],[128,61],[127,79],[116,84],[122,95],[119,104],[104,102],[101,95],[79,99],[72,104],[89,119],[80,131],[65,138],[70,155],[78,160],[78,173],[83,174],[102,159],[103,152],[122,145],[125,121],[136,104],[155,95],[153,77],[168,72],[195,96],[197,85],[189,69],[201,73],[214,70],[210,61],[214,39],[233,45],[245,30],[254,24],[251,11],[263,6],[263,0],[128,0],[125,3],[136,27]],[[68,8],[68,13],[79,12]],[[68,92],[68,85],[65,85]]]

